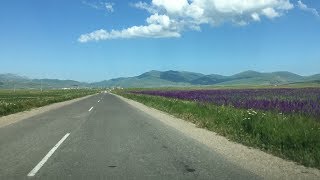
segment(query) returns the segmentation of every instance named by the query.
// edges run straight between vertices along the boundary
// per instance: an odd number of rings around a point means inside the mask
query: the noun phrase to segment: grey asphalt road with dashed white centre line
[[[0,128],[0,179],[260,177],[103,93]]]

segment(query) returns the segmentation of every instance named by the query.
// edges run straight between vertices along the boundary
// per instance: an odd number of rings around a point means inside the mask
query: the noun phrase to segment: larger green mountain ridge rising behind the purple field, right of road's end
[[[262,73],[244,71],[232,76],[205,75],[187,71],[149,71],[139,76],[117,78],[93,83],[94,87],[167,87],[208,85],[283,85],[303,82],[319,82],[320,74],[300,76],[287,71]]]

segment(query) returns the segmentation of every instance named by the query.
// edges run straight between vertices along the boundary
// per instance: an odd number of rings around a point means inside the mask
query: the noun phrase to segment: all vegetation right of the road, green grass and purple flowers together
[[[320,169],[320,89],[122,90],[230,140]]]

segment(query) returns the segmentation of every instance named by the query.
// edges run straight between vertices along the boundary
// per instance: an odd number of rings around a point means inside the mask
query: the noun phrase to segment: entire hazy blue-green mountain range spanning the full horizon
[[[279,71],[261,73],[245,71],[232,76],[205,75],[186,71],[149,71],[135,77],[122,77],[95,83],[58,79],[30,79],[15,74],[0,74],[0,88],[85,88],[85,87],[172,87],[172,86],[229,86],[229,85],[283,85],[292,83],[319,83],[320,74],[300,76]]]

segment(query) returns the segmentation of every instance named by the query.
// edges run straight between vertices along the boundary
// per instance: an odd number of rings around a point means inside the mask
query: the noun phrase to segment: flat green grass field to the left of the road
[[[67,101],[98,92],[89,89],[74,90],[0,90],[0,117],[48,104]]]

